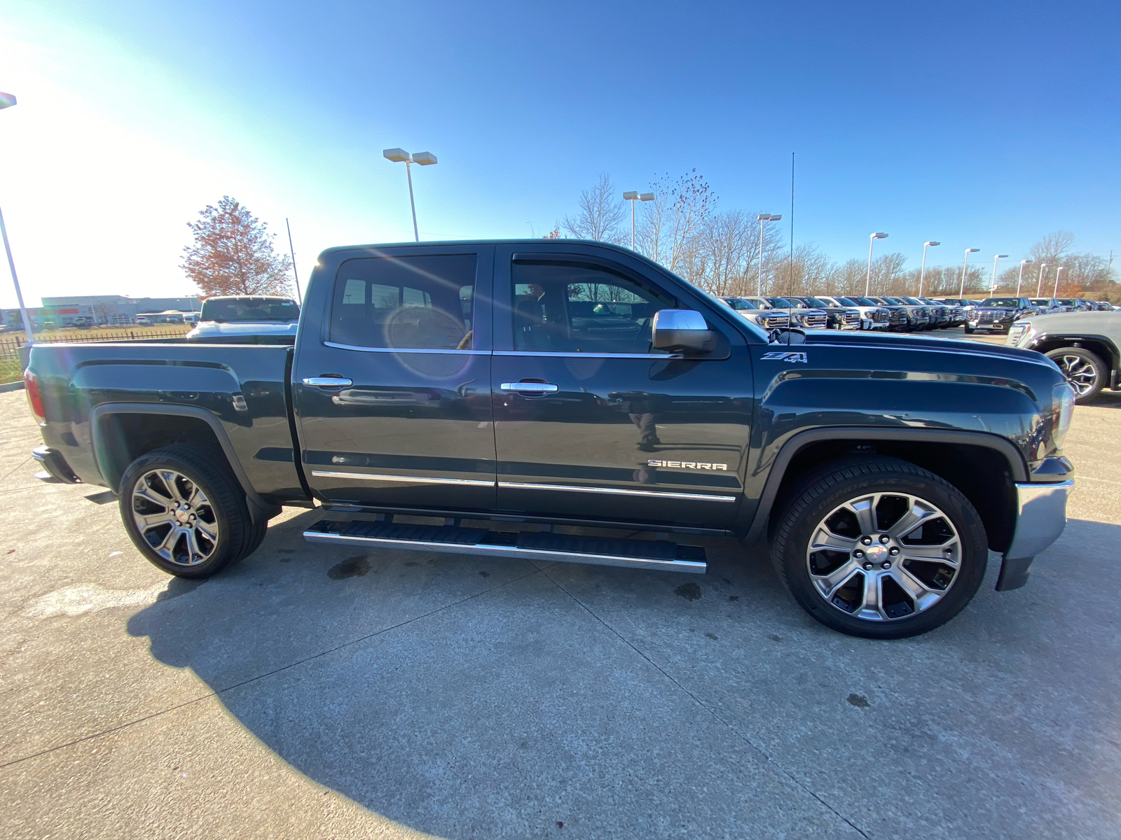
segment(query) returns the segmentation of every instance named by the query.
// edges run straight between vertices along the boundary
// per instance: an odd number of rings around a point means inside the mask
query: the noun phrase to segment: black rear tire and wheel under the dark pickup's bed
[[[177,475],[172,479],[173,488],[157,470]],[[268,523],[254,525],[244,491],[220,451],[191,444],[156,449],[129,465],[120,489],[121,522],[129,538],[141,554],[169,575],[209,578],[241,560],[265,539]],[[175,504],[174,508],[161,498]],[[192,505],[192,500],[202,503]],[[137,515],[148,516],[155,524],[146,524],[141,533]],[[179,515],[182,521],[176,519]],[[173,533],[176,529],[178,534]]]

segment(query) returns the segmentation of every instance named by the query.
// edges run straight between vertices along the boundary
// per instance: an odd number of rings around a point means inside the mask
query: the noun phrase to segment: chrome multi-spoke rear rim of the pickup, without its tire
[[[154,469],[132,487],[132,519],[151,550],[178,566],[205,562],[217,548],[217,516],[182,473]]]

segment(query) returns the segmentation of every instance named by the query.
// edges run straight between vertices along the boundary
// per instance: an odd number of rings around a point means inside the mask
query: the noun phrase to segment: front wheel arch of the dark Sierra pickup
[[[799,476],[824,463],[867,452],[930,470],[954,485],[976,508],[989,547],[1004,551],[1016,528],[1016,483],[1028,480],[1020,450],[995,435],[936,429],[828,428],[795,435],[775,457],[744,541],[773,534],[775,514]]]

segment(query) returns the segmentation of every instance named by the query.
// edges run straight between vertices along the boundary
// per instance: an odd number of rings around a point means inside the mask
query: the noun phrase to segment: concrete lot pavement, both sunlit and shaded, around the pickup
[[[732,540],[700,577],[314,547],[291,510],[169,579],[0,393],[0,836],[1117,838],[1119,428],[1076,409],[1026,588],[992,563],[873,642]]]

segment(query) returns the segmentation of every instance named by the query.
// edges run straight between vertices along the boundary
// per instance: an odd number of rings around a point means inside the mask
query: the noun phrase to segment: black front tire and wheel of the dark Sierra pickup
[[[810,552],[810,540],[823,534],[821,529],[826,526],[827,520],[839,523],[827,525],[832,536],[837,533],[832,530],[834,526],[845,524],[849,510],[842,508],[846,502],[873,493],[884,494],[878,503],[879,507],[871,508],[877,511],[873,514],[874,530],[880,533],[890,531],[893,528],[890,521],[892,510],[900,506],[900,500],[908,501],[905,496],[914,497],[928,508],[936,508],[937,516],[928,520],[934,541],[904,542],[916,533],[921,540],[926,535],[924,524],[923,529],[900,533],[898,539],[892,536],[887,543],[882,543],[877,534],[870,536],[867,545],[860,542],[860,535],[839,538],[837,542],[852,542],[852,553],[830,550]],[[803,609],[835,631],[865,638],[906,638],[927,633],[957,615],[984,579],[989,548],[981,517],[956,487],[914,464],[886,457],[842,458],[805,476],[787,494],[787,500],[777,519],[772,544],[775,568]],[[902,522],[904,515],[907,514],[901,514],[896,522]],[[856,523],[858,531],[862,530],[855,515],[852,523]],[[938,542],[938,536],[947,532],[953,539]],[[942,549],[941,545],[953,548]],[[924,550],[926,559],[907,557]],[[943,551],[946,552],[946,562],[941,559]],[[939,558],[930,559],[932,553],[938,553]],[[833,558],[833,554],[837,557]],[[860,560],[858,554],[862,556]],[[833,571],[822,560],[823,557],[837,563]],[[956,569],[949,564],[949,558],[956,561]],[[812,563],[822,567],[816,577],[810,572]],[[833,584],[827,579],[830,575],[836,576],[836,580],[850,582],[837,584],[831,600],[826,600],[826,594],[818,587]],[[844,577],[846,575],[849,577]],[[870,581],[876,587],[873,591],[879,616],[876,619],[861,617],[861,612],[872,612],[862,609],[869,603],[867,586]],[[900,582],[911,589],[921,589],[920,600],[908,595]],[[856,603],[858,598],[860,603]],[[896,600],[892,601],[892,598]]]

